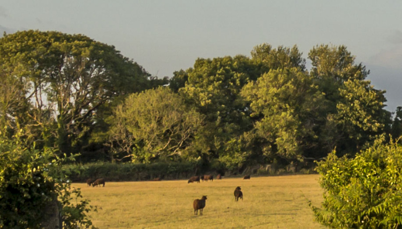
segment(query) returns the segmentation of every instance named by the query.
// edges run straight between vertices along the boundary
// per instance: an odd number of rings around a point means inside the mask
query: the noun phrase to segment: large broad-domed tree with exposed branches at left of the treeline
[[[45,141],[56,140],[63,153],[87,144],[104,118],[100,108],[118,96],[152,86],[150,75],[137,63],[115,47],[83,35],[17,32],[0,39],[0,53],[3,72],[24,83],[21,101],[32,106],[24,113],[40,129],[51,129]]]

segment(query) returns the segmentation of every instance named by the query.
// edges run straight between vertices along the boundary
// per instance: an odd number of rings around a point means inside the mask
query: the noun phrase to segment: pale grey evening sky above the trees
[[[262,43],[297,45],[306,59],[316,45],[345,45],[394,111],[402,106],[401,10],[399,0],[0,0],[0,36],[30,29],[83,34],[158,77],[197,58],[250,56]]]

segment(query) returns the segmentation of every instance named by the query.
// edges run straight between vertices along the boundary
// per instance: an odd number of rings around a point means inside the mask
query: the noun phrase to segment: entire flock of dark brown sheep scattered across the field
[[[222,179],[222,176],[221,176],[221,174],[218,174],[217,175],[217,179],[218,180],[220,180],[220,179]],[[243,179],[250,179],[250,175],[246,175],[246,176],[244,176],[243,177]],[[155,179],[153,179],[153,181],[160,181],[161,180],[161,178],[155,178]],[[200,180],[203,180],[203,181],[214,181],[214,176],[213,175],[204,175],[204,176],[192,176],[192,177],[190,177],[190,179],[188,179],[188,182],[187,182],[187,184],[188,183],[193,183],[193,182],[200,182]],[[103,187],[105,187],[105,179],[103,179],[103,178],[99,178],[99,179],[87,179],[86,180],[86,184],[88,185],[88,186],[91,186],[92,185],[92,187],[95,187],[95,186],[99,186],[100,187],[100,185],[101,184],[103,184]],[[234,195],[235,195],[235,201],[238,201],[239,199],[242,199],[243,200],[243,192],[241,191],[241,188],[240,188],[240,186],[237,186],[236,187],[236,189],[235,189],[235,192],[234,192]],[[198,214],[198,210],[199,210],[199,215],[202,215],[203,214],[203,209],[204,209],[204,207],[205,207],[205,201],[207,200],[207,196],[205,195],[205,196],[203,196],[203,197],[201,197],[201,199],[194,199],[194,202],[192,203],[192,206],[193,206],[193,208],[194,208],[194,215],[197,215]]]

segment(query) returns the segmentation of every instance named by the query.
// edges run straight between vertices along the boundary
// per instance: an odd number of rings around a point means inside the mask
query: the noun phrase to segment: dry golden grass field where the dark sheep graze
[[[320,205],[319,175],[223,178],[187,184],[187,180],[107,182],[81,188],[97,212],[98,228],[324,228],[314,221],[306,198]],[[241,186],[244,199],[234,201]],[[207,195],[204,215],[193,213],[192,202]]]

